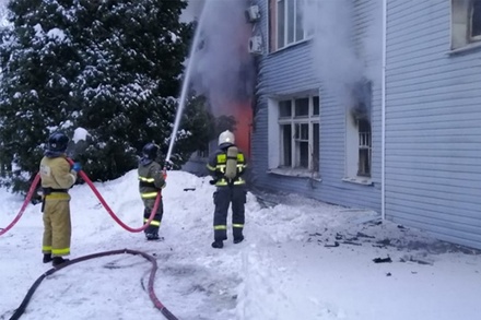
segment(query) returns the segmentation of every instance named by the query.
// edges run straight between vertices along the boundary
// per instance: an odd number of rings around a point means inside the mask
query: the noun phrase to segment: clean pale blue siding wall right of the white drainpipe
[[[386,215],[481,248],[481,51],[450,54],[450,1],[388,0]]]

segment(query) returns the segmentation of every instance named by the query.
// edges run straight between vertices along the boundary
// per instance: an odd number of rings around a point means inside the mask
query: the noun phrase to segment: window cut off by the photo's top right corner
[[[481,0],[451,0],[451,49],[481,42]]]

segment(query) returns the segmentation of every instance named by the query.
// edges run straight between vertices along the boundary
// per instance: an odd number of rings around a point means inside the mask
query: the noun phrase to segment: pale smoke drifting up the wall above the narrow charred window
[[[373,78],[367,74],[366,58],[380,61],[377,54],[380,54],[380,37],[371,38],[369,44],[354,43],[352,0],[305,0],[304,3],[305,28],[313,34],[313,62],[324,94],[350,108],[352,92],[362,81]]]

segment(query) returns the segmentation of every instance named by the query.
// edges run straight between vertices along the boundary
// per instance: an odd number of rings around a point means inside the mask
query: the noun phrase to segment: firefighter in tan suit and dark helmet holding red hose
[[[70,222],[70,189],[81,170],[79,163],[70,167],[66,150],[69,138],[62,132],[55,132],[48,138],[47,150],[40,161],[40,178],[44,213],[44,239],[42,251],[44,263],[51,261],[59,265],[69,259],[71,222]]]

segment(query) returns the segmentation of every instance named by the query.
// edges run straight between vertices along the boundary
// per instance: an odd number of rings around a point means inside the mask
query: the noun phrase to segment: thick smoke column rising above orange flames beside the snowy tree
[[[251,25],[246,8],[246,0],[207,0],[199,19],[201,48],[193,56],[191,83],[207,95],[214,115],[230,114],[223,108],[250,94],[254,69],[247,45]]]

